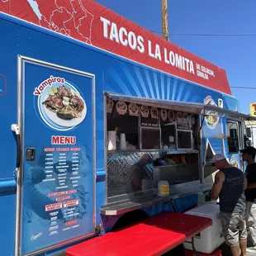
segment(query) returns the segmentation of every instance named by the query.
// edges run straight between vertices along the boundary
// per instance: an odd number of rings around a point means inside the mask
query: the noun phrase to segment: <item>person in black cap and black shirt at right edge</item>
[[[249,235],[253,246],[247,249],[247,252],[256,254],[256,163],[254,147],[247,147],[240,150],[243,161],[247,162],[245,177],[247,178],[246,197],[246,222],[249,229]]]

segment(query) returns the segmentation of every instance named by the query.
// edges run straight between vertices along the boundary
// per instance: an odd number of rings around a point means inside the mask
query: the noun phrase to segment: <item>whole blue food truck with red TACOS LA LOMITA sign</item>
[[[186,211],[214,154],[243,168],[254,117],[223,69],[94,1],[62,4],[0,4],[2,256]]]

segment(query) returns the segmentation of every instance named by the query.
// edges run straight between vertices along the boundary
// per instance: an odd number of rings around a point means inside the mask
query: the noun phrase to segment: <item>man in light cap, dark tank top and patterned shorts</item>
[[[211,188],[211,198],[220,197],[220,221],[225,243],[231,248],[233,256],[245,256],[247,230],[245,223],[245,195],[247,181],[244,173],[230,165],[225,156],[216,154],[212,164],[219,169]],[[239,252],[241,250],[241,254]]]

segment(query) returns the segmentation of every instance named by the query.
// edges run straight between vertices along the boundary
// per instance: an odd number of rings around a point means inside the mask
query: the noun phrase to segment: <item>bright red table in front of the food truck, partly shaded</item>
[[[89,239],[66,250],[66,256],[162,255],[212,225],[212,220],[162,212],[135,225]]]

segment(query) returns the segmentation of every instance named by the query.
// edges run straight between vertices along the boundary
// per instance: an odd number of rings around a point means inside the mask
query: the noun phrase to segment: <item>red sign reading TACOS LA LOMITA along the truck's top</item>
[[[231,94],[224,69],[92,0],[7,0],[0,11],[113,54]]]

